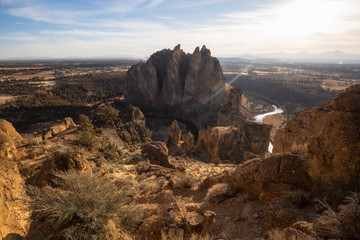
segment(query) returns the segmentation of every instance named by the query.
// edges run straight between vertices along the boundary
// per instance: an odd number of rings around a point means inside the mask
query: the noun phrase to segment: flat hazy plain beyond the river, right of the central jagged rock
[[[232,86],[277,102],[290,114],[329,101],[360,83],[360,65],[233,60],[222,67]]]

